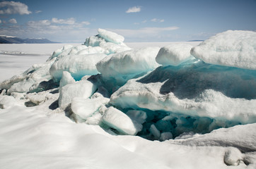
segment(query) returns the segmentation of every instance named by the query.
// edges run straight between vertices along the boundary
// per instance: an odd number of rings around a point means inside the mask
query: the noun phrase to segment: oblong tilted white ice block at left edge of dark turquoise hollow
[[[136,128],[131,118],[114,107],[107,108],[107,111],[103,115],[103,123],[122,134],[135,135],[141,130]]]

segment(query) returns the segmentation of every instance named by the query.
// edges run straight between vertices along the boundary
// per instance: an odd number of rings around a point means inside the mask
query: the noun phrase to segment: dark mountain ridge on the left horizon
[[[56,44],[59,42],[52,42],[45,38],[26,38],[12,37],[0,35],[0,44]]]

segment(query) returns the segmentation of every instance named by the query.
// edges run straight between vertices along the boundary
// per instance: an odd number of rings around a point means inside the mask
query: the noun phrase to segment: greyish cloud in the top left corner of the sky
[[[31,12],[28,11],[28,6],[15,1],[1,1],[0,2],[0,14],[30,14]]]

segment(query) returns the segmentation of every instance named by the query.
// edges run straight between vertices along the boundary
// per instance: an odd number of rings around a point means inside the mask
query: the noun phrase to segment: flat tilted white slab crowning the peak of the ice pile
[[[112,42],[115,44],[122,44],[122,42],[124,42],[124,37],[117,35],[115,32],[110,32],[99,28],[98,34],[100,37],[103,37],[106,42]]]

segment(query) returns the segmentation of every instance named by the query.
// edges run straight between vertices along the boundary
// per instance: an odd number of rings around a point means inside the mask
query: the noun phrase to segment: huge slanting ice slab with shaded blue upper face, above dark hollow
[[[256,75],[206,63],[159,67],[129,80],[112,94],[110,104],[255,123]]]

